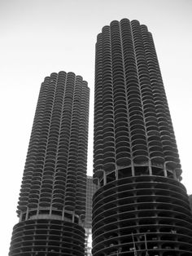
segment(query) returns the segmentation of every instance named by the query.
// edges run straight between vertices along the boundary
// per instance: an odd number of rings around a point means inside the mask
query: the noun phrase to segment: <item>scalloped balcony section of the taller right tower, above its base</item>
[[[137,20],[112,21],[98,34],[95,68],[94,178],[135,165],[181,165],[151,33]],[[133,172],[132,172],[133,173]]]

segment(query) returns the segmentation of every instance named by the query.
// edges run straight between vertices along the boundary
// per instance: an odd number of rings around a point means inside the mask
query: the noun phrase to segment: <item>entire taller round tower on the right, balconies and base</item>
[[[192,218],[151,33],[137,20],[98,34],[93,254],[192,255]]]

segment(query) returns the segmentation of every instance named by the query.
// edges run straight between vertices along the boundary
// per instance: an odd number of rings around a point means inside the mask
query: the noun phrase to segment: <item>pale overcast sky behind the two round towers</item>
[[[192,1],[0,0],[1,255],[7,255],[41,82],[60,70],[89,83],[88,174],[93,166],[94,45],[111,20],[153,34],[183,170],[192,193]]]

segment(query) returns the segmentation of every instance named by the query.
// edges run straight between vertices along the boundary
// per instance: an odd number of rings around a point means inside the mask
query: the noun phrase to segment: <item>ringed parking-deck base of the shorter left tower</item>
[[[13,227],[9,256],[84,256],[85,230],[76,223],[34,219]]]

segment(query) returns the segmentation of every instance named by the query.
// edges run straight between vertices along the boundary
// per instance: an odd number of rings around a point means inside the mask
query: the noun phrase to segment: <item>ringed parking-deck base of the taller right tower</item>
[[[174,179],[134,176],[94,194],[94,256],[191,256],[192,218],[185,187]]]

